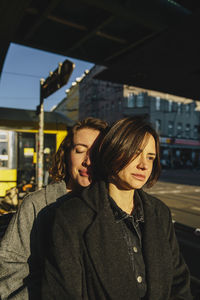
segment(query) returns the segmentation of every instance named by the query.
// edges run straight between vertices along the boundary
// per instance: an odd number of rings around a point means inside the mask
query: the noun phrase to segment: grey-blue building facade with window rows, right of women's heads
[[[123,115],[145,115],[154,125],[160,135],[163,167],[199,168],[199,102],[137,88],[124,88]]]

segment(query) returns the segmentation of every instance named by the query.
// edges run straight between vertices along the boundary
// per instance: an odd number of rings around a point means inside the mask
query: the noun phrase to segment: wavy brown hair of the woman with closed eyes
[[[74,134],[80,129],[93,129],[100,132],[100,136],[104,136],[104,132],[108,127],[107,122],[97,118],[88,117],[82,121],[78,121],[73,127],[68,130],[67,136],[64,138],[56,154],[52,159],[52,167],[49,169],[49,174],[52,182],[64,180],[68,182],[69,175],[69,154],[73,148]]]

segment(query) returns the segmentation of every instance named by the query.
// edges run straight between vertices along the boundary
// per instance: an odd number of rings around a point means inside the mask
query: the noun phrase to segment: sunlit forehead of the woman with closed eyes
[[[95,129],[79,129],[74,133],[73,143],[74,145],[84,145],[86,147],[90,147],[96,140],[99,133],[99,130]]]

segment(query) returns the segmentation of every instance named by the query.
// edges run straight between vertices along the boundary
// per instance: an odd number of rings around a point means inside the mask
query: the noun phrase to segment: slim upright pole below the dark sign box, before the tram
[[[42,97],[42,85],[44,79],[40,79],[40,105],[39,105],[39,130],[37,153],[37,189],[43,187],[43,158],[44,158],[44,99]]]

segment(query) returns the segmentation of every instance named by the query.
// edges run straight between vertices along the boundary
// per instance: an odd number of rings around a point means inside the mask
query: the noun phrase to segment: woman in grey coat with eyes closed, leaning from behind
[[[36,228],[36,220],[49,205],[63,195],[70,191],[78,193],[91,183],[93,175],[89,153],[104,136],[106,128],[105,121],[92,117],[78,121],[70,128],[50,169],[53,182],[27,195],[13,216],[0,243],[2,300],[39,299],[42,268],[39,263],[37,240],[41,232]],[[48,219],[48,222],[43,223],[41,231],[47,228],[48,233],[50,226],[51,221]]]

